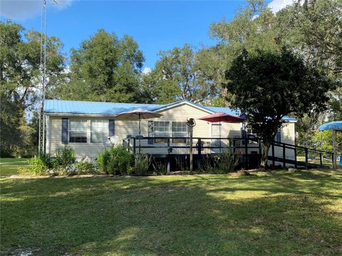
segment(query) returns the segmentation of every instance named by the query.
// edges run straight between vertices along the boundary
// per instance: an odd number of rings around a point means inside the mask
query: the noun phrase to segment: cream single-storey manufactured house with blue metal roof
[[[208,114],[225,112],[237,116],[238,113],[227,107],[203,107],[201,105],[181,100],[167,105],[130,104],[113,102],[81,102],[68,100],[46,100],[44,114],[46,116],[46,152],[53,152],[56,148],[68,145],[76,152],[76,159],[87,157],[95,160],[103,151],[104,142],[108,142],[108,135],[117,135],[121,141],[128,135],[139,134],[139,122],[115,119],[121,112],[128,112],[142,108],[162,114],[160,118],[142,119],[141,135],[149,137],[188,137],[187,119],[194,118],[194,137],[203,139],[208,145],[217,145],[219,133],[222,146],[227,146],[227,138],[241,138],[252,131],[243,123],[210,123],[199,120]],[[288,144],[295,144],[296,119],[284,117],[286,125],[279,131],[276,139]],[[151,129],[152,128],[152,129]],[[219,129],[221,131],[219,132]],[[242,141],[241,141],[242,143]],[[250,142],[253,143],[253,142]],[[256,143],[256,142],[254,142]],[[142,152],[148,154],[167,154],[165,139],[143,139],[141,146],[163,146],[160,148],[145,148]],[[186,145],[186,139],[172,139],[170,146]],[[206,149],[206,153],[215,151]],[[249,149],[250,154],[252,149]],[[276,156],[282,156],[281,149],[275,150]],[[172,154],[186,154],[188,149],[175,149]],[[205,152],[204,152],[205,153]],[[252,152],[253,153],[253,152]],[[195,152],[196,154],[196,152]],[[286,158],[294,159],[294,152],[286,149]]]

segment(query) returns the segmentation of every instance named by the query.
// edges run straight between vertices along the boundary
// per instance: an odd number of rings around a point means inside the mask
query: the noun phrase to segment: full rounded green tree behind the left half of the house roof
[[[140,102],[143,61],[132,37],[100,29],[71,50],[70,81],[58,87],[57,95],[63,100]]]

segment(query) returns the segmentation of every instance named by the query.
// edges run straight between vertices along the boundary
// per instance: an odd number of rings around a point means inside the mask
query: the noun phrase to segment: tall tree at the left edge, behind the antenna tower
[[[31,144],[28,138],[33,131],[27,125],[26,112],[36,107],[41,89],[40,39],[37,31],[24,31],[11,21],[0,22],[1,156],[20,154]],[[62,48],[58,38],[46,38],[48,91],[61,79],[65,68]]]

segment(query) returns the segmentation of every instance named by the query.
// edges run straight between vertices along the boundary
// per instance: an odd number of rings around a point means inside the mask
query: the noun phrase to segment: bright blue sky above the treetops
[[[78,48],[99,28],[118,36],[133,36],[145,56],[145,68],[153,68],[160,50],[190,43],[212,46],[209,25],[214,21],[233,18],[244,0],[233,1],[72,1],[52,0],[48,3],[49,36],[58,36],[68,54]],[[278,6],[289,0],[274,0]],[[26,29],[40,30],[41,1],[1,0],[1,21],[5,18],[21,23]],[[273,7],[272,7],[273,8]]]

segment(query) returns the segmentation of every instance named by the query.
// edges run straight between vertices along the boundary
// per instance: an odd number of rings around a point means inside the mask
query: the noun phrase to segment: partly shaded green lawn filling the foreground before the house
[[[1,179],[1,253],[341,255],[342,174]]]

